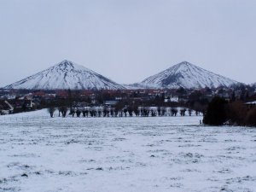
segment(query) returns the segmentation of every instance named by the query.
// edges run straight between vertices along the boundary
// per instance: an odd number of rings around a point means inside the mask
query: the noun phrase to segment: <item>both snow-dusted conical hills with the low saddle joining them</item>
[[[53,67],[36,73],[3,89],[11,90],[118,90],[118,89],[176,89],[216,88],[237,84],[235,80],[209,72],[187,61],[157,73],[142,83],[121,85],[113,82],[90,69],[73,63],[61,61]]]

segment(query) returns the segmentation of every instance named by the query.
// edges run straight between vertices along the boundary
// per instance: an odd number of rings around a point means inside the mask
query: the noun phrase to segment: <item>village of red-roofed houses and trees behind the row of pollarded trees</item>
[[[256,105],[255,86],[240,84],[230,88],[196,90],[0,90],[0,110],[3,115],[55,105],[58,108],[79,108],[81,112],[88,107],[182,107],[204,113],[214,96],[227,102],[243,102],[247,108]]]

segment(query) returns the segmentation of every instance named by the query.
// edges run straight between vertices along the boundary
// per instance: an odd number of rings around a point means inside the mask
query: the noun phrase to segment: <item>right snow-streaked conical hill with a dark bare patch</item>
[[[237,84],[235,80],[225,78],[221,75],[209,72],[201,67],[197,67],[187,61],[183,61],[175,66],[157,73],[142,83],[137,84],[141,87],[152,88],[216,88],[218,86],[230,86]]]

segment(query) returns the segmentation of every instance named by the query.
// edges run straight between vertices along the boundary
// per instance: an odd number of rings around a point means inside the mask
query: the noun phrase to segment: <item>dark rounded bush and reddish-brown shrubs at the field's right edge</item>
[[[223,98],[214,97],[209,103],[203,119],[206,125],[246,125],[256,126],[256,108],[244,102],[226,102]]]

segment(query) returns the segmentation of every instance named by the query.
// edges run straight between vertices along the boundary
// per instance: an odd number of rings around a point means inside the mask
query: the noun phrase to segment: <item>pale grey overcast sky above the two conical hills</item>
[[[0,0],[0,86],[67,59],[118,83],[181,61],[256,82],[256,0]]]

